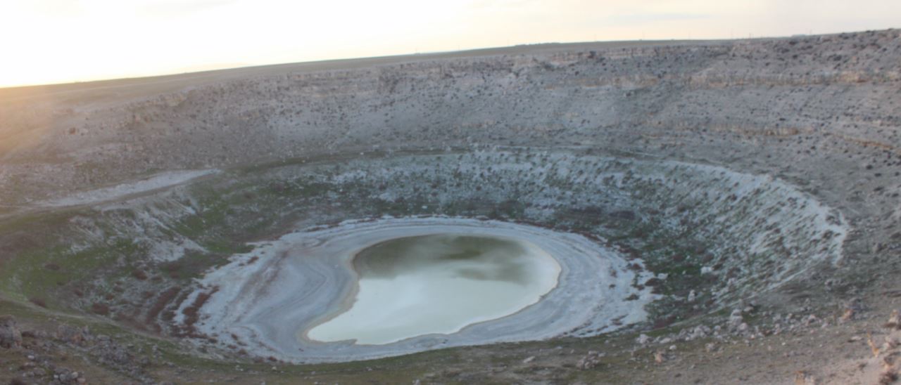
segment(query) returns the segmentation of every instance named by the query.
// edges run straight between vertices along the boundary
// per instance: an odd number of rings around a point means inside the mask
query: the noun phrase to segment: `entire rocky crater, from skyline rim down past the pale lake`
[[[257,361],[245,374],[482,345],[372,367],[660,381],[690,373],[669,363],[696,335],[777,363],[799,348],[765,338],[894,290],[899,41],[553,44],[2,91],[0,304],[151,362]],[[598,350],[604,370],[580,370]],[[652,369],[655,350],[680,358]],[[487,356],[505,359],[470,361]]]

